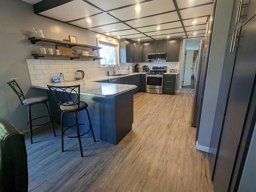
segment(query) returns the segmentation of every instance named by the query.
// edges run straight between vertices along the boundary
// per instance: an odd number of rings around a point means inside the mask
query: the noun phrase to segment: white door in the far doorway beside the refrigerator
[[[193,74],[194,50],[186,50],[186,63],[183,86],[190,85],[191,75]]]

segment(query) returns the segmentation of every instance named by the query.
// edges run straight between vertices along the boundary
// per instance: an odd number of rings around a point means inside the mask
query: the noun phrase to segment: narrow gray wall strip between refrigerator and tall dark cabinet
[[[198,145],[209,147],[225,57],[233,0],[217,1]]]

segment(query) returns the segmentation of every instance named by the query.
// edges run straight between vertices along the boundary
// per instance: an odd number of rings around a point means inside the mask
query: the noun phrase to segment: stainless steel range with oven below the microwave
[[[163,74],[166,71],[167,66],[150,66],[149,73],[146,74],[146,92],[163,93]]]

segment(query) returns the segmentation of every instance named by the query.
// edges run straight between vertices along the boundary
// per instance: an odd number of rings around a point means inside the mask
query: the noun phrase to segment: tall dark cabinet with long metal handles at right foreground
[[[229,37],[219,90],[209,162],[215,191],[236,191],[251,108],[256,73],[255,1],[234,1]],[[248,13],[248,14],[247,14]],[[250,17],[250,18],[248,18]],[[239,155],[242,155],[239,158]],[[240,159],[240,160],[239,160]]]

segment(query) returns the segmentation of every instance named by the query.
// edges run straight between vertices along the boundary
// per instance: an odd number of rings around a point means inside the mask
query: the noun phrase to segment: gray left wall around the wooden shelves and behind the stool
[[[77,37],[79,43],[96,45],[96,33],[73,27],[62,22],[35,15],[33,6],[20,0],[1,0],[0,7],[0,117],[15,124],[20,130],[27,128],[27,108],[22,106],[14,92],[6,84],[10,78],[18,79],[26,97],[45,95],[46,91],[31,88],[26,58],[38,52],[41,46],[28,41],[29,31],[33,27],[44,29],[47,38],[68,39],[69,35]],[[35,108],[34,108],[35,109]],[[45,114],[43,106],[37,106],[34,115]]]

